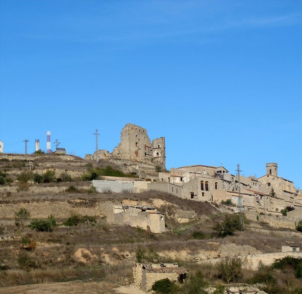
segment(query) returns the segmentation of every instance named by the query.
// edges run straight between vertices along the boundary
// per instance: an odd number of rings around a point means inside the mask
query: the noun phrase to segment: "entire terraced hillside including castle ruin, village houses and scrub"
[[[159,294],[163,280],[173,294],[301,293],[302,190],[277,163],[259,178],[167,171],[165,148],[127,123],[112,152],[84,159],[0,153],[3,293]],[[271,267],[279,259],[284,270]]]

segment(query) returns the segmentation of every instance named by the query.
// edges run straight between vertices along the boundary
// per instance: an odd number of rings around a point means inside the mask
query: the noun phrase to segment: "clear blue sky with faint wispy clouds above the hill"
[[[204,164],[302,189],[301,1],[0,1],[4,152],[112,151],[126,123]]]

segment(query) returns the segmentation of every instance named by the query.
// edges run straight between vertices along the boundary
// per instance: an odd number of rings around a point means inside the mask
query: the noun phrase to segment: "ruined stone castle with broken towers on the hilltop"
[[[110,153],[97,150],[93,155],[86,154],[85,159],[106,159],[121,166],[126,172],[150,173],[155,168],[166,169],[165,138],[150,140],[147,129],[127,123],[121,132],[121,142]]]

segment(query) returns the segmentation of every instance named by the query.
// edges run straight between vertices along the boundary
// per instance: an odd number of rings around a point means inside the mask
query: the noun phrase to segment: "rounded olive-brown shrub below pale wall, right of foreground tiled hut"
[[[236,256],[227,256],[218,263],[217,270],[219,278],[227,282],[227,284],[238,281],[242,277],[241,259]]]

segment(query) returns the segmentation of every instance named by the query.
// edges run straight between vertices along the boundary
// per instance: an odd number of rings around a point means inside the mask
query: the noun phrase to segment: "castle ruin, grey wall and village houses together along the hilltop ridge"
[[[302,208],[302,190],[278,176],[277,163],[267,163],[266,174],[259,178],[233,175],[222,166],[191,165],[166,172],[165,138],[151,142],[146,129],[131,123],[122,129],[121,142],[112,153],[98,150],[86,154],[85,159],[106,159],[125,172],[139,175],[139,179],[116,179],[119,185],[113,179],[94,181],[100,192],[104,188],[121,192],[127,182],[134,192],[157,190],[193,201],[231,201],[243,211],[282,215],[281,210],[287,206],[295,208],[295,214]]]

